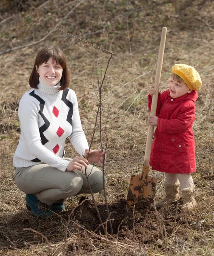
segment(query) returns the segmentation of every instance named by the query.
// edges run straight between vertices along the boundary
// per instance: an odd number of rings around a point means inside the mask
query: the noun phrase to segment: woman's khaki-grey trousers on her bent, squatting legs
[[[66,158],[66,160],[71,160]],[[35,194],[39,201],[51,205],[57,200],[81,193],[90,193],[90,188],[82,171],[62,172],[47,164],[14,168],[17,187],[27,194]],[[86,170],[93,193],[103,190],[103,172],[95,166],[88,165]],[[106,185],[106,177],[105,177]]]

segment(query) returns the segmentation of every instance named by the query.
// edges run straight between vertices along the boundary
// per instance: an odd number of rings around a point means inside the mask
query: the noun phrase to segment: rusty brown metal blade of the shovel
[[[155,196],[156,179],[148,176],[148,166],[143,166],[142,174],[131,175],[127,201],[130,207],[144,208]]]

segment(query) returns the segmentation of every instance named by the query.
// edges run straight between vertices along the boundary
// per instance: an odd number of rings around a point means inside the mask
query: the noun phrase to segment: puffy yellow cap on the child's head
[[[194,67],[188,66],[186,64],[175,64],[171,68],[172,72],[176,75],[180,76],[180,78],[185,81],[186,85],[191,90],[200,90],[200,86],[202,85],[202,81],[200,78],[199,73],[197,70],[194,69]]]

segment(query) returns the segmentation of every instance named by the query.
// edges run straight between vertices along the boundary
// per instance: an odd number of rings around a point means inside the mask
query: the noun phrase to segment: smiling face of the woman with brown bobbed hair
[[[52,63],[52,57],[49,58],[47,63],[36,66],[37,73],[39,73],[40,79],[48,86],[55,86],[63,75],[63,68],[54,61]]]

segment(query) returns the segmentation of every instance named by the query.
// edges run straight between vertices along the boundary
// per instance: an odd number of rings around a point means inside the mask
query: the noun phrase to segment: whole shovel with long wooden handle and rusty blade
[[[151,103],[151,116],[156,115],[157,98],[160,84],[160,76],[163,64],[163,53],[165,48],[166,27],[162,29],[162,35],[160,40],[160,49],[157,59],[157,69],[154,80],[155,95],[152,96]],[[152,137],[154,132],[154,126],[148,125],[148,134],[146,140],[146,149],[143,162],[143,170],[140,175],[131,175],[130,185],[128,189],[127,201],[130,207],[142,208],[143,204],[149,204],[153,201],[155,196],[156,179],[148,176],[148,165],[151,153]]]

